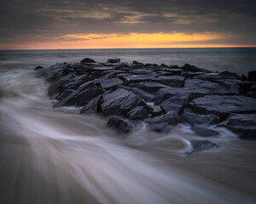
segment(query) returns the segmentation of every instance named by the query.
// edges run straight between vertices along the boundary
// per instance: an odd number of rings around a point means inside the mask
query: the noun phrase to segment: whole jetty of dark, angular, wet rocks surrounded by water
[[[256,138],[255,71],[239,77],[188,64],[129,64],[120,59],[98,63],[89,58],[35,70],[49,82],[55,108],[78,106],[81,114],[102,114],[108,127],[121,134],[142,123],[158,132],[183,123],[203,138],[218,136],[214,127],[227,127],[244,139]],[[207,140],[193,146],[217,147]]]

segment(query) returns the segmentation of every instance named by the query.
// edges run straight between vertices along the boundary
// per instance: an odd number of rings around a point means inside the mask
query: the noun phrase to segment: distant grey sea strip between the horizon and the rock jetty
[[[76,62],[85,57],[104,62],[120,58],[123,62],[184,65],[189,63],[211,71],[232,71],[247,76],[256,70],[256,48],[128,48],[128,49],[55,49],[0,51],[0,65],[51,65]]]

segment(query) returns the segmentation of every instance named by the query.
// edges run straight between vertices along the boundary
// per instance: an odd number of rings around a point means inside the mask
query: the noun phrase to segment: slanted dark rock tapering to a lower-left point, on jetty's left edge
[[[104,91],[98,88],[94,82],[87,82],[81,85],[78,90],[75,90],[73,94],[68,95],[67,98],[56,103],[54,107],[63,105],[84,106],[89,103],[90,99],[103,93]]]

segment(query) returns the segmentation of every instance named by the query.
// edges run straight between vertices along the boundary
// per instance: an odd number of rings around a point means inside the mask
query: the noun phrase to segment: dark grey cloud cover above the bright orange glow
[[[75,33],[212,31],[236,35],[229,43],[256,44],[255,10],[254,0],[2,0],[0,43]]]

